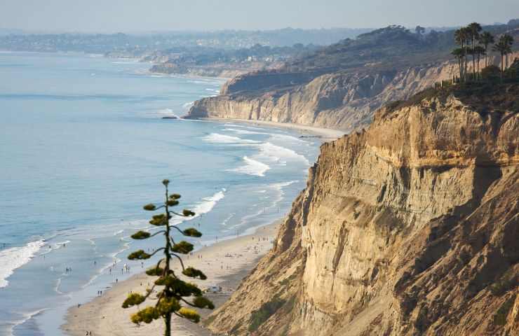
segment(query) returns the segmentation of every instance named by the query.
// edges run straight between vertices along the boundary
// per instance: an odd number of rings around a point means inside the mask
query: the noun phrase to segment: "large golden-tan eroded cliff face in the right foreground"
[[[380,110],[323,144],[273,250],[210,330],[518,335],[518,164],[518,111],[452,95]]]

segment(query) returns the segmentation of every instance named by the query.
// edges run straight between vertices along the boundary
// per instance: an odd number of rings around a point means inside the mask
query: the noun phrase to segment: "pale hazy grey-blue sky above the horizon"
[[[165,31],[456,26],[519,18],[519,0],[0,0],[0,28]]]

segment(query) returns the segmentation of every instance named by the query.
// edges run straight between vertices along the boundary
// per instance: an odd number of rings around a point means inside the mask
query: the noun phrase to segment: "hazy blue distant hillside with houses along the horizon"
[[[154,34],[20,34],[4,30],[0,50],[38,52],[119,52],[126,57],[140,57],[156,50],[170,48],[220,48],[236,50],[252,45],[292,46],[329,45],[342,38],[354,38],[370,29],[276,29],[266,31],[172,31]],[[0,31],[1,33],[1,31]],[[3,36],[2,36],[3,35]]]

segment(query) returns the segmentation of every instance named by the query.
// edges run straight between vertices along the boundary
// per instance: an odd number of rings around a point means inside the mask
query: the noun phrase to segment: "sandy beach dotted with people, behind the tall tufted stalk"
[[[216,307],[227,300],[234,292],[241,279],[255,267],[257,261],[269,251],[272,241],[281,221],[258,228],[254,234],[220,241],[211,246],[201,248],[189,258],[184,258],[184,264],[203,270],[208,276],[205,281],[189,279],[204,289],[208,286],[221,286],[221,293],[208,294]],[[180,265],[174,263],[173,269],[179,270]],[[176,272],[179,274],[180,272]],[[136,274],[126,281],[113,283],[113,287],[102,296],[81,307],[72,307],[67,314],[67,322],[62,325],[65,334],[71,336],[84,336],[85,332],[92,331],[95,336],[151,336],[162,335],[163,321],[158,320],[149,325],[135,325],[130,321],[130,314],[137,311],[137,307],[123,309],[122,302],[130,291],[144,293],[148,283],[154,281],[154,277],[144,273]],[[154,300],[148,300],[148,304],[154,304]],[[142,307],[146,305],[142,304]],[[141,307],[141,308],[142,308]],[[202,318],[211,311],[199,309]],[[182,318],[173,319],[173,335],[177,336],[210,336],[208,330],[200,325],[190,323]]]

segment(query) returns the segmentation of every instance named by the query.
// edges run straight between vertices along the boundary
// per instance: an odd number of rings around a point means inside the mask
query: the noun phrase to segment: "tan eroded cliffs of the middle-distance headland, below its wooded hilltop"
[[[497,61],[489,59],[490,64]],[[369,125],[384,104],[405,100],[458,73],[452,62],[398,71],[377,71],[376,66],[324,74],[248,73],[226,83],[220,96],[195,102],[189,117],[268,120],[351,132]]]

